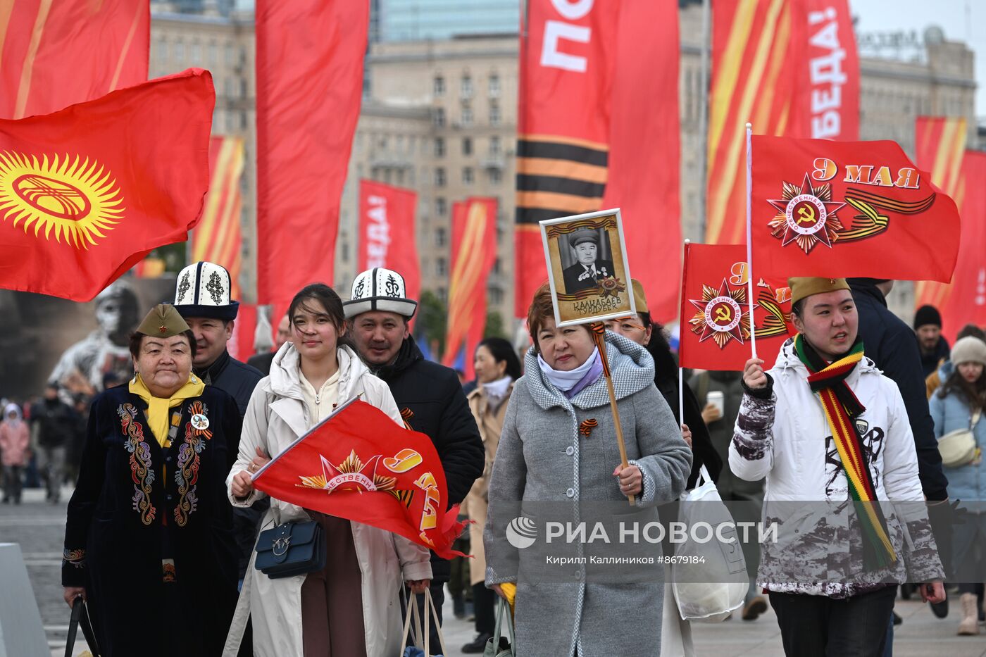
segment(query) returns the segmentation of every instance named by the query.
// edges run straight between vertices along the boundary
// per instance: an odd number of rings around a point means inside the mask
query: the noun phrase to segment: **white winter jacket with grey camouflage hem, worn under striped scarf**
[[[862,533],[848,504],[849,489],[821,401],[794,339],[768,372],[770,399],[743,396],[730,468],[746,480],[766,477],[764,520],[779,520],[779,542],[764,543],[758,584],[771,591],[843,598],[886,582],[943,577],[918,479],[907,410],[896,384],[864,357],[846,379],[866,407],[857,418],[864,459],[888,536],[901,557],[889,568],[862,568]],[[901,522],[903,521],[903,522]]]

